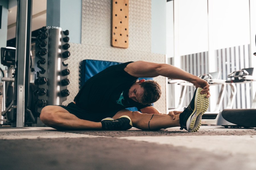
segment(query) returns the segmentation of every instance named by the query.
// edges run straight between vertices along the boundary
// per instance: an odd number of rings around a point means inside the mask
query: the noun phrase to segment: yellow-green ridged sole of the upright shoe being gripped
[[[189,132],[197,132],[201,126],[202,115],[207,111],[209,106],[209,99],[207,94],[201,94],[202,88],[198,88],[195,96],[195,108],[190,115],[190,121],[187,121],[187,127]]]

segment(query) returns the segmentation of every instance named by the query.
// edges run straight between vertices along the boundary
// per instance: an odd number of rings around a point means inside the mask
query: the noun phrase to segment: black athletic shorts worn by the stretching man
[[[92,111],[85,111],[83,109],[80,109],[75,103],[71,102],[67,106],[61,106],[60,107],[66,109],[69,113],[74,114],[79,119],[83,120],[90,120],[92,122],[100,122],[102,119],[107,117],[113,117],[118,110],[112,110],[112,111],[103,111],[103,112],[92,112]]]

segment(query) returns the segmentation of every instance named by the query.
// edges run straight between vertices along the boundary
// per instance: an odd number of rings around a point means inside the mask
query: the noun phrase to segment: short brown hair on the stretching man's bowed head
[[[158,101],[161,97],[162,90],[160,84],[154,80],[146,80],[140,84],[144,89],[144,94],[142,96],[142,104],[150,104]]]

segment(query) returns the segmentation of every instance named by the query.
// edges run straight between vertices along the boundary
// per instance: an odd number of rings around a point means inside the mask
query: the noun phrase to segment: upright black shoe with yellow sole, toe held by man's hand
[[[207,111],[209,99],[207,94],[201,94],[202,88],[195,90],[193,99],[179,116],[181,130],[196,132],[201,126],[202,115]]]

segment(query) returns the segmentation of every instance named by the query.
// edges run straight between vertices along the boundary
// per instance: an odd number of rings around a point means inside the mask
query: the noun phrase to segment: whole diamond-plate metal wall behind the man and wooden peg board
[[[63,105],[72,102],[79,91],[79,67],[84,59],[105,61],[150,61],[165,63],[165,55],[151,53],[151,1],[129,1],[129,48],[111,47],[111,0],[82,1],[82,44],[70,43],[67,60],[70,95]],[[154,106],[166,113],[166,78],[154,78],[162,86],[162,97]]]

